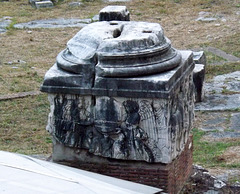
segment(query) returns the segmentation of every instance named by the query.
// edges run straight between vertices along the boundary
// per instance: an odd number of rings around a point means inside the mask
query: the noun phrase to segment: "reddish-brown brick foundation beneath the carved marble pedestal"
[[[149,164],[135,161],[108,160],[108,163],[80,162],[78,164],[59,162],[91,172],[96,172],[153,187],[167,193],[179,193],[192,173],[192,136],[183,152],[169,164]]]

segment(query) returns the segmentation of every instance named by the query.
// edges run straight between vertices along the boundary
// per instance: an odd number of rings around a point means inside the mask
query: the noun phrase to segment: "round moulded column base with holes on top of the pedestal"
[[[180,61],[181,54],[171,47],[159,24],[132,21],[90,24],[57,57],[57,65],[66,71],[81,73],[83,66],[94,66],[101,77],[156,74]]]

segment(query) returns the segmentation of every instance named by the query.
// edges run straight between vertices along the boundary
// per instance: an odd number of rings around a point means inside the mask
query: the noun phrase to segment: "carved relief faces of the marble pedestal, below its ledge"
[[[47,129],[62,144],[94,155],[168,163],[182,151],[192,127],[191,79],[170,100],[49,95]]]

